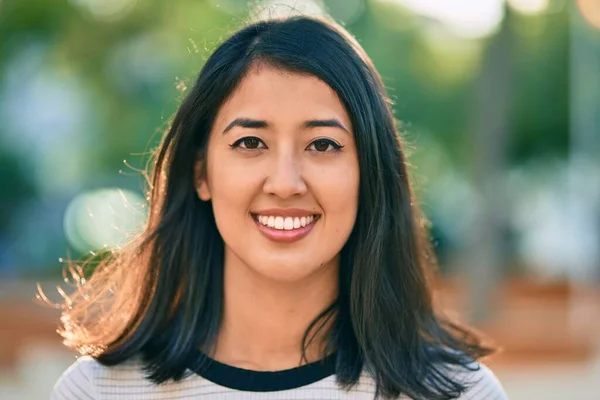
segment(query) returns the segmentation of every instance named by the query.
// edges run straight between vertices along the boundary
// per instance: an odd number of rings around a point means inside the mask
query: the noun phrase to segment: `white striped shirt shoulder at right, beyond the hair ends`
[[[506,400],[508,396],[496,375],[481,363],[472,363],[470,370],[456,372],[457,378],[467,386],[460,400]]]

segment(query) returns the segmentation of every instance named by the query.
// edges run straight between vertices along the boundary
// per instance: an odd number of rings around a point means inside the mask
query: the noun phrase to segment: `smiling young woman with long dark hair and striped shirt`
[[[68,299],[53,399],[503,399],[432,304],[373,64],[341,27],[250,25],[163,138],[144,232]]]

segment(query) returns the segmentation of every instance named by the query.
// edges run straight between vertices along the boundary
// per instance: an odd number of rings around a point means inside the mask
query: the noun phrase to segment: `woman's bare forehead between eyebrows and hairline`
[[[217,120],[350,118],[337,93],[319,78],[270,65],[254,65],[227,101]]]

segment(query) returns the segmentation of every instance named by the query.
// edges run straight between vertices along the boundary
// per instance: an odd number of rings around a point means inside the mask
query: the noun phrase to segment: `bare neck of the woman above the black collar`
[[[338,295],[339,261],[329,264],[302,282],[274,282],[226,252],[224,311],[214,358],[253,370],[276,371],[301,365],[307,328]],[[332,320],[308,345],[305,362],[322,358],[324,335]],[[309,340],[314,333],[309,332]]]

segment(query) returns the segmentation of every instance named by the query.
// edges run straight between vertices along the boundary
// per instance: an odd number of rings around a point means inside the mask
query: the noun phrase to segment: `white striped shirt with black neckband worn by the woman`
[[[363,374],[350,391],[340,388],[332,367],[334,360],[323,360],[285,371],[249,371],[210,363],[179,381],[156,385],[144,377],[141,364],[128,361],[106,367],[91,357],[80,357],[60,377],[51,400],[373,400],[375,381]],[[495,375],[483,364],[473,372],[461,372],[469,389],[460,400],[504,400],[506,396]],[[406,397],[401,397],[406,399]]]

